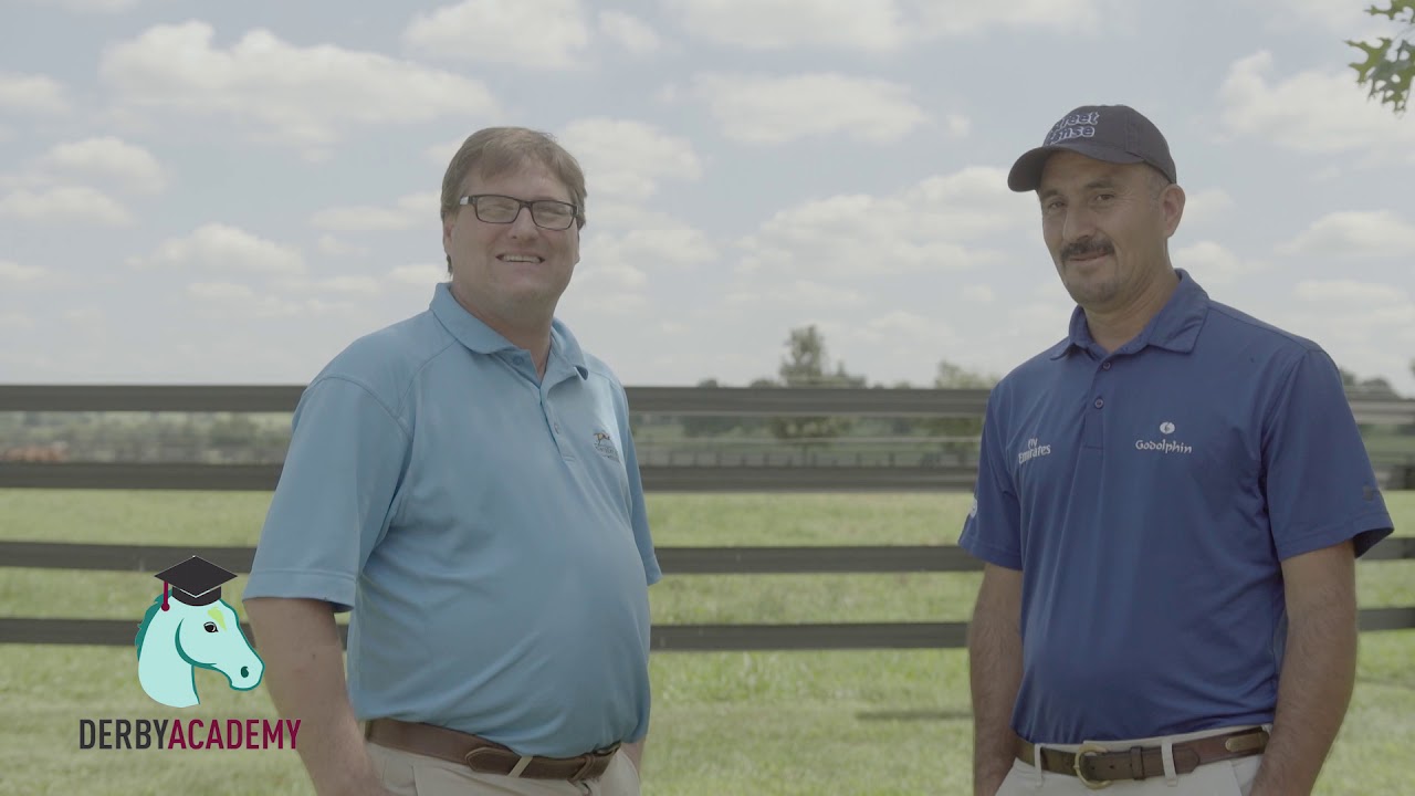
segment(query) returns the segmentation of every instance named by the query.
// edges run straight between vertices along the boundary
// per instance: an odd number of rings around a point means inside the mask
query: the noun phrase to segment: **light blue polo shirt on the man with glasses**
[[[618,380],[556,322],[538,381],[443,283],[304,391],[245,599],[354,609],[359,720],[573,756],[648,731],[659,576]]]

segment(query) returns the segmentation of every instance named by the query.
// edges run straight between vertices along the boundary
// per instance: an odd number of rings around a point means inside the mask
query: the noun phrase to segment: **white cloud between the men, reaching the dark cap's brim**
[[[965,269],[998,259],[972,244],[1033,222],[1005,173],[969,167],[897,194],[846,194],[775,214],[740,241],[739,273],[860,276]]]

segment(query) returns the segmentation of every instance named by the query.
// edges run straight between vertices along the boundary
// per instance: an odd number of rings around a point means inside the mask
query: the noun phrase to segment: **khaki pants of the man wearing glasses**
[[[638,796],[638,772],[623,751],[599,779],[565,782],[477,773],[470,768],[365,744],[383,788],[398,796]]]

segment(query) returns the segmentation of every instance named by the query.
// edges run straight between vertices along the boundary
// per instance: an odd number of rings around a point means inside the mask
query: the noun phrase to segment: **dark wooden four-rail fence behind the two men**
[[[0,411],[45,412],[289,412],[301,387],[55,387],[0,385]],[[983,390],[698,390],[628,388],[635,414],[794,416],[978,416]],[[1415,423],[1415,401],[1353,398],[1360,423]],[[1401,482],[1415,462],[1392,459],[1388,480]],[[0,462],[0,487],[18,489],[201,489],[270,490],[280,465],[171,465],[127,462]],[[654,491],[897,491],[972,489],[974,467],[644,467]],[[1404,486],[1397,483],[1395,486]],[[1411,482],[1408,486],[1415,486]],[[249,572],[253,548],[100,545],[0,541],[0,567],[156,572],[201,555],[233,572]],[[981,564],[952,545],[659,548],[666,575],[966,572]],[[1415,540],[1385,540],[1363,562],[1415,558]],[[1363,564],[1364,565],[1364,564]],[[1363,609],[1361,630],[1415,627],[1415,606]],[[134,622],[0,618],[0,643],[130,644]],[[965,643],[962,622],[814,625],[655,625],[652,649],[821,650],[940,649]]]

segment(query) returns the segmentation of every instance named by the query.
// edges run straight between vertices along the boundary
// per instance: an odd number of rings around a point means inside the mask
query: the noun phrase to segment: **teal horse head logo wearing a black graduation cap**
[[[241,632],[236,610],[221,599],[221,584],[235,575],[192,555],[157,578],[163,596],[153,599],[137,626],[143,691],[174,708],[195,705],[198,669],[225,674],[236,691],[259,686],[265,663]]]

